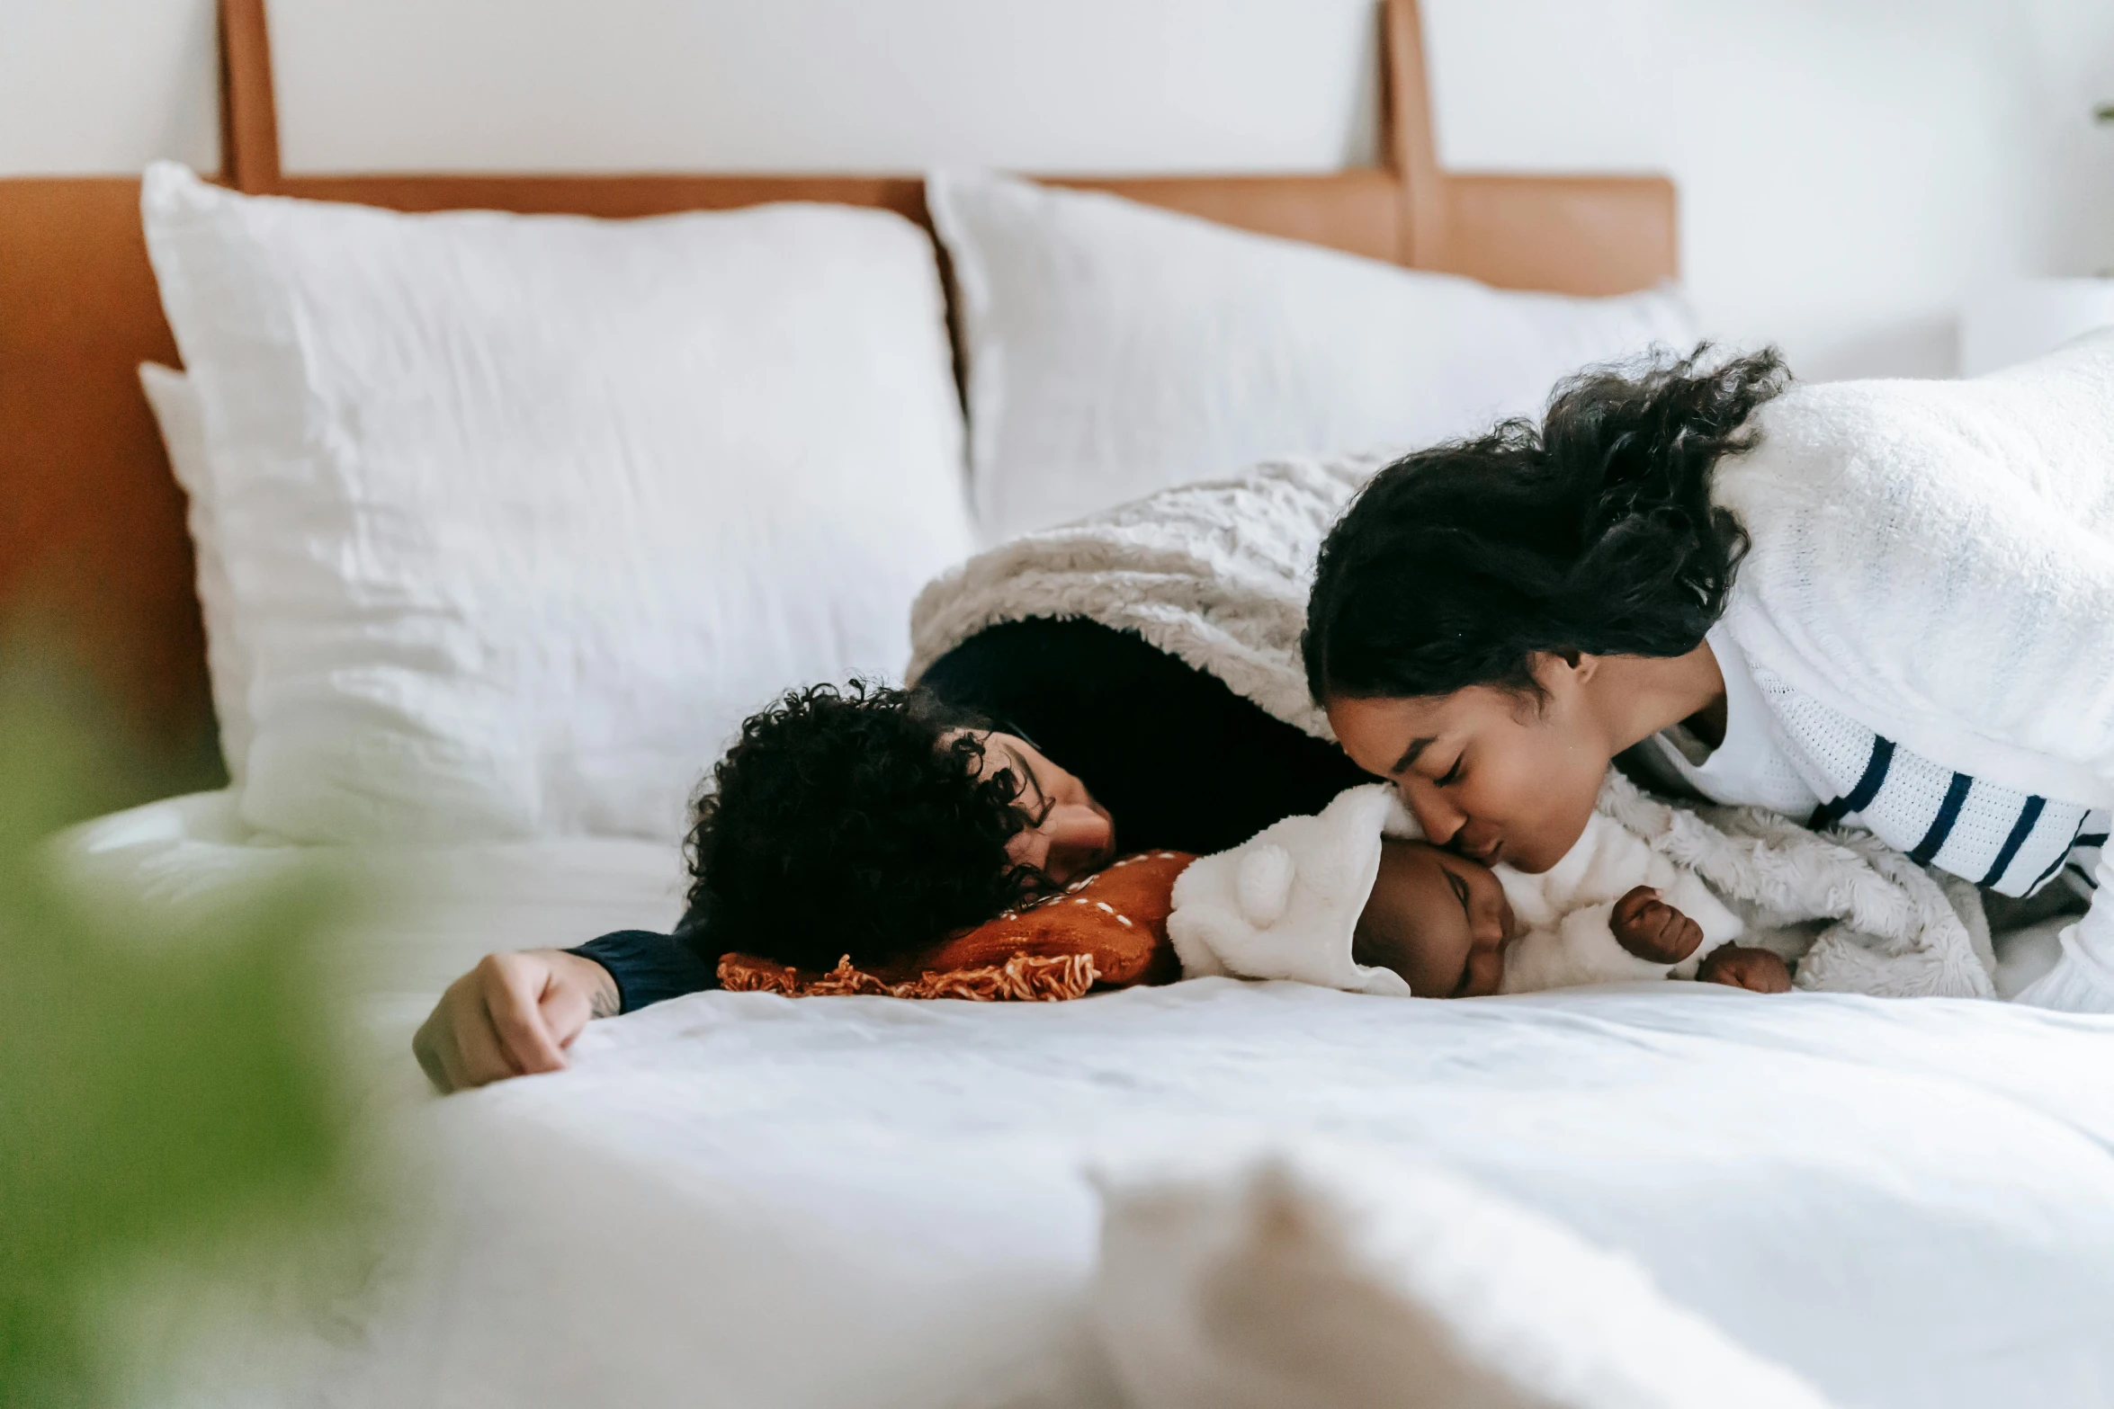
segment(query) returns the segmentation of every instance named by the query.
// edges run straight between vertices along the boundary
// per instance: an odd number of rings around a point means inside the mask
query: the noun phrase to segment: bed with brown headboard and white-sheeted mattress
[[[285,175],[262,0],[224,0],[222,23],[239,192],[605,218],[797,199],[932,220],[915,177]],[[1674,275],[1662,180],[1444,171],[1414,4],[1389,0],[1383,23],[1387,167],[1078,186],[1499,287],[1624,296]],[[1797,1403],[2114,1401],[2114,1027],[2097,1018],[1664,984],[1467,1003],[1228,980],[1057,1006],[704,993],[592,1025],[567,1073],[429,1098],[408,1033],[438,989],[490,948],[668,927],[676,839],[391,839],[391,822],[296,845],[214,788],[203,577],[135,380],[137,361],[175,359],[140,196],[0,184],[0,585],[85,621],[89,665],[169,760],[161,790],[192,788],[78,828],[68,856],[89,885],[175,904],[319,851],[387,883],[393,908],[353,944],[370,1101],[416,1151],[427,1219],[332,1305],[207,1348],[180,1398],[1213,1403],[1142,1390],[1110,1325],[1123,1289],[1097,1189],[1161,1158],[1315,1145],[1404,1187],[1440,1170],[1643,1267],[1750,1365],[1810,1384]],[[972,361],[962,275],[953,357]],[[975,387],[968,403],[975,420]],[[1748,1388],[1649,1403],[1793,1403]],[[1446,1401],[1397,1384],[1309,1403]],[[1535,1403],[1647,1401],[1602,1386]]]

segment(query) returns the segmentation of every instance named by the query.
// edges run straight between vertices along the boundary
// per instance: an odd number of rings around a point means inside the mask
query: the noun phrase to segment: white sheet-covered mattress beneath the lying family
[[[78,845],[171,894],[283,864],[224,818],[178,801]],[[476,953],[666,925],[681,881],[615,843],[397,860],[427,900],[361,942],[406,976],[376,989],[400,1035]],[[2114,1403],[2110,1018],[1700,984],[708,993],[596,1022],[567,1073],[395,1120],[429,1139],[435,1223],[290,1350],[328,1403],[1118,1403],[1082,1170],[1304,1132],[1636,1257],[1841,1405]]]

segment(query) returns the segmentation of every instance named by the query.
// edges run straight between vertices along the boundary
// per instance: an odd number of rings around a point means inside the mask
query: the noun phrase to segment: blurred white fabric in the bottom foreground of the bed
[[[1328,1143],[1104,1177],[1104,1341],[1137,1409],[1822,1409],[1626,1257]]]

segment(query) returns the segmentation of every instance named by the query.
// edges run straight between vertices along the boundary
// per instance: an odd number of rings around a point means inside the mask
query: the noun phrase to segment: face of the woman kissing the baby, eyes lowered
[[[1495,866],[1547,870],[1586,832],[1609,746],[1586,684],[1594,657],[1541,657],[1545,699],[1471,687],[1435,699],[1330,699],[1351,760],[1391,777],[1425,837]]]

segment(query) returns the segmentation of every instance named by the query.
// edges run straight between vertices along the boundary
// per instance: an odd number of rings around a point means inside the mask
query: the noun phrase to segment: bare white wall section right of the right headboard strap
[[[1949,374],[1977,285],[2114,264],[2110,0],[1425,0],[1440,148],[1681,184],[1712,334]]]

